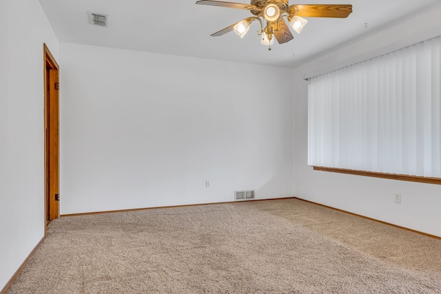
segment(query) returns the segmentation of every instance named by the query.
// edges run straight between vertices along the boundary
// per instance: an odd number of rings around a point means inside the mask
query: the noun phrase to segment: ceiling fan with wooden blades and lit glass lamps
[[[240,38],[243,38],[247,34],[252,21],[257,20],[260,23],[258,34],[261,36],[261,43],[269,46],[268,50],[271,50],[271,45],[274,44],[274,37],[279,44],[294,39],[283,17],[287,17],[287,21],[294,32],[300,34],[308,22],[302,17],[345,18],[352,12],[352,6],[347,4],[289,5],[288,0],[251,0],[250,4],[199,0],[196,1],[196,4],[249,10],[255,15],[254,17],[247,17],[242,21],[238,21],[223,30],[215,32],[212,36],[222,36],[234,30]],[[266,21],[266,25],[264,25],[264,21]]]

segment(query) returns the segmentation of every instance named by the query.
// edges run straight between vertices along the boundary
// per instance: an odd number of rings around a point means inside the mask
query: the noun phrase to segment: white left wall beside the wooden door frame
[[[0,290],[44,235],[43,43],[38,0],[0,1]]]

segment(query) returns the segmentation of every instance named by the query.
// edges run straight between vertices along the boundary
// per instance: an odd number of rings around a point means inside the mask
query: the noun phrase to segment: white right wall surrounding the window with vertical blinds
[[[415,41],[416,34],[440,34],[440,15],[441,4],[438,3],[430,10],[384,28],[382,32],[375,32],[342,46],[294,70],[296,196],[441,236],[441,185],[334,174],[314,171],[307,166],[307,81],[303,80],[303,75],[307,72],[360,59],[360,56],[367,56],[369,50],[380,52],[384,48],[393,48],[398,43],[402,46],[410,45]],[[421,23],[422,26],[418,28],[413,23]],[[401,204],[393,201],[394,193],[402,194]]]

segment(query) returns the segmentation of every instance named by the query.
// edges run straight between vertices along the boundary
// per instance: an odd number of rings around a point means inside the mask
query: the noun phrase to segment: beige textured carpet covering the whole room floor
[[[60,218],[12,293],[441,293],[441,240],[296,199]]]

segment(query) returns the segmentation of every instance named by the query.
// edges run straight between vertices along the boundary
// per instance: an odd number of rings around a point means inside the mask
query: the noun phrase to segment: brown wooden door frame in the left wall
[[[59,218],[59,201],[55,200],[55,196],[50,195],[51,187],[51,175],[50,171],[55,170],[57,177],[55,185],[57,186],[57,192],[59,193],[59,65],[55,61],[54,56],[50,53],[50,50],[46,44],[43,44],[43,78],[44,78],[44,218],[45,228],[48,221],[55,218]],[[55,71],[51,74],[51,71]],[[52,93],[52,94],[51,94]],[[54,107],[49,107],[50,101],[54,101]],[[50,125],[54,128],[53,132],[48,132]],[[56,153],[53,154],[53,148],[49,148],[49,145],[54,147]],[[51,159],[52,158],[52,159]],[[56,166],[52,168],[54,163]]]

